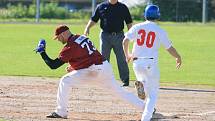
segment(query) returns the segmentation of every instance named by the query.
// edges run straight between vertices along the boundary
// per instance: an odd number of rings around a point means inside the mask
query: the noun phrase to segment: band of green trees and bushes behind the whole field
[[[159,5],[161,12],[161,21],[177,22],[200,22],[202,20],[202,0],[151,0]],[[138,5],[130,8],[134,20],[141,20],[146,5]],[[207,0],[207,15],[209,21],[215,19],[215,0]],[[36,4],[18,3],[11,4],[3,2],[0,5],[0,18],[35,18]],[[69,11],[68,8],[60,6],[57,2],[42,2],[40,4],[41,18],[57,19],[89,19],[91,11],[79,9]]]

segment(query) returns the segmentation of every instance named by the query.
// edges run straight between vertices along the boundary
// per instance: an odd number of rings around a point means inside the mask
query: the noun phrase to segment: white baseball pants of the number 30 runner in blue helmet
[[[133,70],[138,81],[144,85],[146,93],[145,108],[141,121],[150,121],[158,98],[160,72],[155,59],[133,61]]]

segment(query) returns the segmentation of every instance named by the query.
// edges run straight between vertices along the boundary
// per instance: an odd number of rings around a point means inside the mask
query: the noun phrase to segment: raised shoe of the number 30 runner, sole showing
[[[143,83],[140,81],[135,81],[134,85],[137,90],[138,97],[142,100],[145,100],[146,96],[145,96]]]

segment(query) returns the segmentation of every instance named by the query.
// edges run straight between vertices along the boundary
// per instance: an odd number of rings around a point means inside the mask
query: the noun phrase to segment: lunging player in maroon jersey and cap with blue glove
[[[54,39],[65,44],[55,60],[46,54],[45,40],[39,41],[35,51],[40,53],[51,69],[56,69],[64,63],[69,63],[70,66],[67,68],[68,73],[60,79],[56,110],[47,115],[47,118],[67,118],[69,88],[83,83],[102,86],[115,96],[133,104],[137,109],[143,110],[144,101],[117,84],[111,65],[93,46],[89,38],[84,35],[74,35],[66,25],[60,25],[56,28]]]

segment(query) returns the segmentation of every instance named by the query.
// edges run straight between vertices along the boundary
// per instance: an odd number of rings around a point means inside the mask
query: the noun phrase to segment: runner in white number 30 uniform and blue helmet
[[[177,68],[181,66],[181,57],[172,46],[166,32],[155,23],[160,17],[158,6],[148,5],[145,8],[144,17],[145,22],[134,25],[125,34],[123,47],[127,60],[133,60],[137,93],[139,96],[143,95],[140,98],[146,103],[141,121],[150,121],[159,90],[158,50],[160,44],[175,57]],[[129,53],[129,41],[134,42],[132,54]]]

